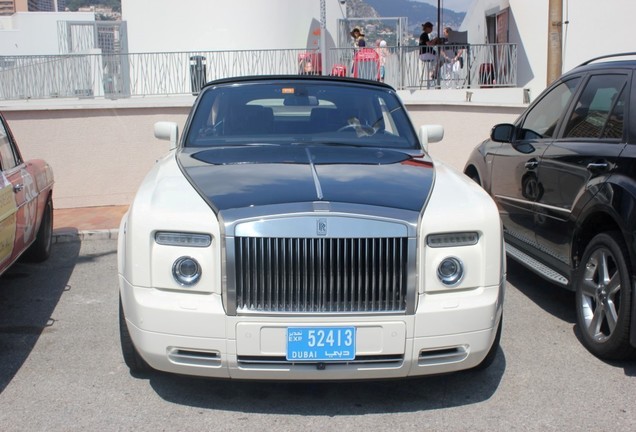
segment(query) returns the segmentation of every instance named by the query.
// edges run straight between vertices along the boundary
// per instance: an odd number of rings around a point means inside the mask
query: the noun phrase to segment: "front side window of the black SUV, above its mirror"
[[[556,126],[568,106],[580,78],[564,81],[550,90],[530,109],[521,127],[521,140],[554,138]]]

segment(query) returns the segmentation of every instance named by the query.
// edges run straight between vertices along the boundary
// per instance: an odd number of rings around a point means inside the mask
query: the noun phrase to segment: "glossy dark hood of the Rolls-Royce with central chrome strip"
[[[434,170],[423,154],[336,145],[185,149],[178,162],[217,210],[340,202],[420,211]]]

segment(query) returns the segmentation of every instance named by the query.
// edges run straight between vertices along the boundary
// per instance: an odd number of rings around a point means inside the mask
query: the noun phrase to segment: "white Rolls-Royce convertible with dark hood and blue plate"
[[[357,380],[486,368],[502,328],[498,211],[431,159],[388,85],[208,83],[118,237],[136,374]]]

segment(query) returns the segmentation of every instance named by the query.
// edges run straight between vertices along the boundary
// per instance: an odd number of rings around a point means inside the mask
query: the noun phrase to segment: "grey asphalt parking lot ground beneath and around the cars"
[[[3,431],[636,429],[636,361],[579,343],[574,296],[509,263],[493,366],[422,379],[253,383],[132,377],[119,350],[116,241],[57,243],[0,277]]]

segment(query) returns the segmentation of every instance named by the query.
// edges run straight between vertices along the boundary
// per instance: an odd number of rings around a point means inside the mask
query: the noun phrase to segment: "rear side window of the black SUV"
[[[622,138],[626,75],[594,75],[565,127],[564,138]]]

